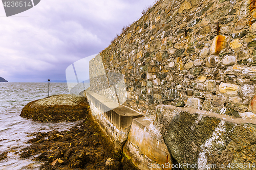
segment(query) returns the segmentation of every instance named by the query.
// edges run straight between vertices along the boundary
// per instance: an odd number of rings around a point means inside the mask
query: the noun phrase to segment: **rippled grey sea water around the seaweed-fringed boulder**
[[[69,94],[67,83],[50,83],[50,95]],[[5,83],[0,82],[0,154],[9,152],[8,158],[0,161],[0,169],[39,169],[41,162],[32,158],[21,159],[20,149],[27,147],[26,141],[33,132],[67,130],[76,123],[38,123],[20,117],[23,107],[34,100],[48,96],[48,83]]]

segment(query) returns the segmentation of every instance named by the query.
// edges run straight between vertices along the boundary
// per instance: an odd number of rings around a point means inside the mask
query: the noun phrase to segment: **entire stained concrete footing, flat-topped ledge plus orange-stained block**
[[[115,143],[115,148],[123,150],[136,166],[140,169],[161,169],[157,168],[158,164],[172,165],[163,137],[153,125],[154,118],[144,117],[92,91],[86,91],[86,95],[93,117],[103,132]]]

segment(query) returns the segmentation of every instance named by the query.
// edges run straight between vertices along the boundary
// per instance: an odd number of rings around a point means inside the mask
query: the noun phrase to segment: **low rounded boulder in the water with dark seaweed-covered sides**
[[[83,119],[88,109],[86,97],[60,94],[28,103],[20,116],[40,122],[72,122]]]

